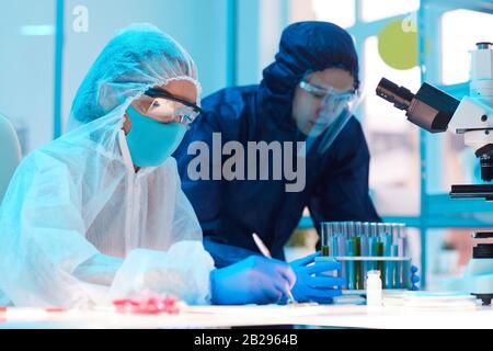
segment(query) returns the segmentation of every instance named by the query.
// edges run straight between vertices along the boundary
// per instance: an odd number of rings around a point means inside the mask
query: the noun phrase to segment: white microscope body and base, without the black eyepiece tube
[[[467,146],[470,146],[481,163],[481,178],[493,179],[493,49],[489,43],[479,43],[471,52],[471,81],[469,97],[465,97],[455,111],[448,129],[462,134]],[[466,190],[472,197],[481,196],[493,200],[492,185],[452,185],[452,197],[463,196]],[[475,233],[474,240],[493,238],[493,233]],[[490,305],[493,299],[493,244],[480,242],[472,250],[466,273],[462,278],[462,290],[470,292]]]

